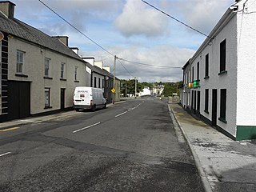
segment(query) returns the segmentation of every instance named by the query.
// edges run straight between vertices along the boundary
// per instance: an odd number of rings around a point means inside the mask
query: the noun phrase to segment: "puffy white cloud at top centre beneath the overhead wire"
[[[127,0],[114,24],[126,37],[140,34],[154,37],[168,31],[166,18],[138,0]]]

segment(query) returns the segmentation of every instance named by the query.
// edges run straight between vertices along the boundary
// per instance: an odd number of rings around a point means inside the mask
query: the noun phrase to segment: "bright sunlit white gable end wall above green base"
[[[242,1],[244,2],[244,1]],[[238,12],[237,125],[256,126],[256,2]]]

